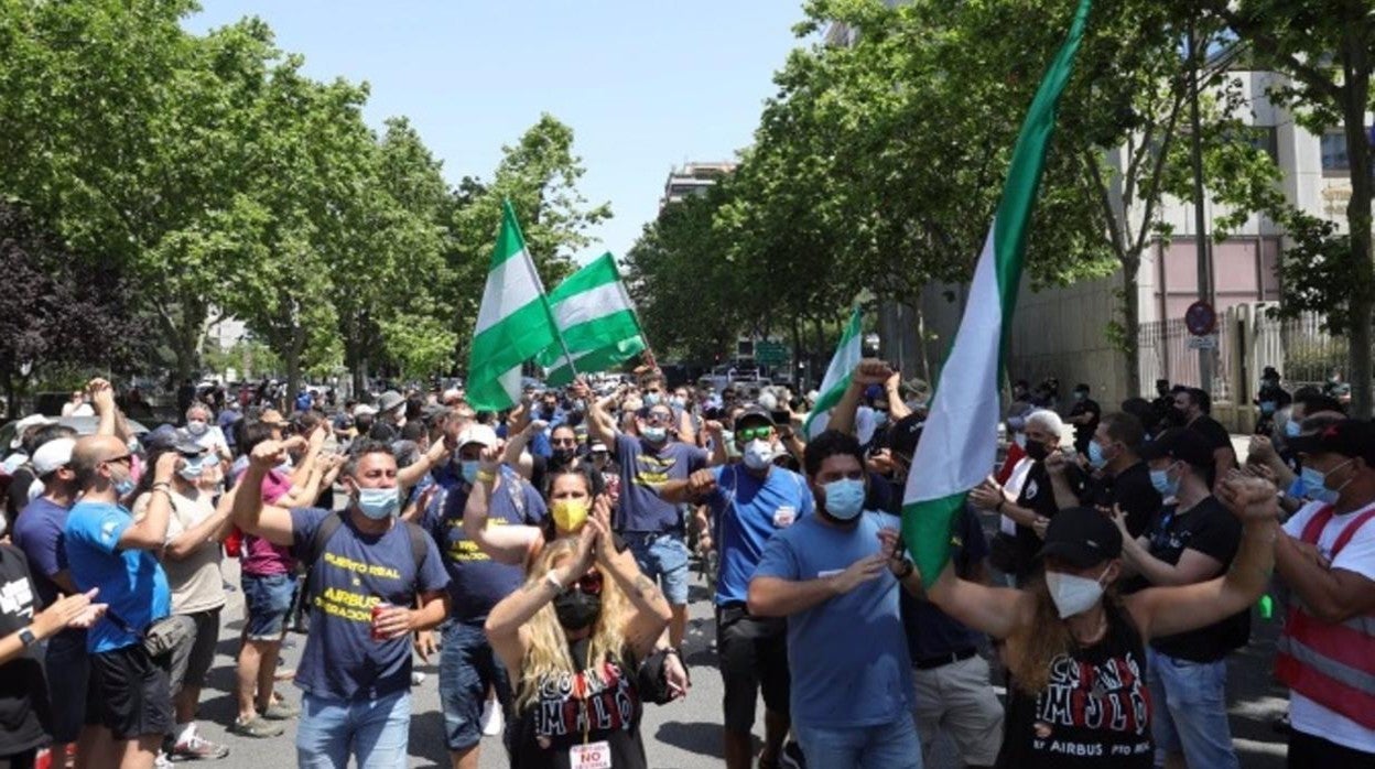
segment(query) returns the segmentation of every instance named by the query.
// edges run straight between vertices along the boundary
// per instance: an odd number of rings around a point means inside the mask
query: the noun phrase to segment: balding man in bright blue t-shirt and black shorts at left
[[[133,520],[121,498],[133,491],[133,455],[113,435],[78,439],[72,469],[84,490],[67,513],[63,539],[77,590],[100,589],[110,604],[87,633],[91,697],[81,747],[89,755],[118,755],[121,769],[148,769],[162,737],[172,732],[172,681],[143,648],[143,633],[172,612],[172,592],[154,557],[166,541],[172,515],[172,473],[177,454],[153,468],[153,501]]]

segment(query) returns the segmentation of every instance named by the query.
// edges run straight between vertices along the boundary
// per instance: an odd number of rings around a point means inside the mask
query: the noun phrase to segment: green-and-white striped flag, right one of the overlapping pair
[[[538,358],[539,365],[549,369],[546,381],[550,385],[573,381],[575,369],[579,374],[605,371],[645,349],[635,305],[609,253],[550,292],[549,308],[564,337],[562,344],[554,340]]]

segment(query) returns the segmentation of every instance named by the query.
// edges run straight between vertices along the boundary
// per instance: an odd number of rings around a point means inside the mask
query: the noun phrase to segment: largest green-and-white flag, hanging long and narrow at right
[[[928,583],[935,582],[949,559],[950,521],[962,510],[965,494],[993,468],[1002,343],[1018,303],[1027,226],[1055,129],[1055,105],[1070,80],[1089,1],[1079,1],[1070,34],[1022,124],[1002,201],[983,243],[964,318],[912,459],[914,469],[908,475],[902,503],[902,535]]]

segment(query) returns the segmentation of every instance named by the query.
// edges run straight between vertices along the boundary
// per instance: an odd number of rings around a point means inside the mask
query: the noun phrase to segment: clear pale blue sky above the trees
[[[192,32],[256,15],[312,77],[366,80],[368,122],[410,117],[451,183],[490,177],[542,111],[571,125],[580,188],[615,213],[582,260],[624,256],[670,166],[749,144],[802,19],[800,0],[202,3]]]

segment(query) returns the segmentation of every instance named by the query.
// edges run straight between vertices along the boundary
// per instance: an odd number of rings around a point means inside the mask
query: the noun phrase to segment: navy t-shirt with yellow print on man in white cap
[[[520,483],[520,508],[512,495]],[[502,598],[512,594],[525,581],[518,565],[496,563],[463,534],[463,508],[468,505],[465,484],[447,488],[444,499],[432,503],[421,519],[421,527],[439,543],[444,568],[448,571],[450,616],[463,623],[487,620],[487,614]],[[502,472],[502,483],[492,490],[487,506],[487,526],[539,526],[544,520],[544,499],[529,483],[510,470]]]

